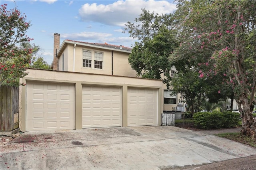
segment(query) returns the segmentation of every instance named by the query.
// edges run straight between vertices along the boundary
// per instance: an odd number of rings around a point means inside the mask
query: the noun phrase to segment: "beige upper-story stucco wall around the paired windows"
[[[82,66],[82,51],[88,50],[94,52],[103,53],[103,69],[95,69],[92,61],[92,68]],[[86,47],[82,45],[76,45],[75,47],[75,69],[74,72],[80,73],[95,73],[112,75],[112,52],[113,52],[113,75],[121,75],[128,77],[136,77],[136,71],[134,71],[128,63],[128,52],[112,51],[106,49],[98,49],[94,47]],[[73,57],[74,57],[74,44],[67,44],[63,51],[64,53],[64,71],[73,71]],[[62,53],[62,54],[63,54]],[[59,58],[59,70],[62,71],[62,56]],[[66,58],[68,57],[68,59]]]

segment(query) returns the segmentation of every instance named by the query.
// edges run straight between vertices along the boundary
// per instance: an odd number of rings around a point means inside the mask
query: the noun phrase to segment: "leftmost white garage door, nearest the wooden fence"
[[[74,85],[28,82],[26,91],[26,130],[74,129]]]

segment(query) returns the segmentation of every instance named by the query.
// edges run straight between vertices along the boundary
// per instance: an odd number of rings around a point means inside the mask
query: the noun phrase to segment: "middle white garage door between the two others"
[[[82,127],[120,127],[121,97],[121,87],[83,86]]]

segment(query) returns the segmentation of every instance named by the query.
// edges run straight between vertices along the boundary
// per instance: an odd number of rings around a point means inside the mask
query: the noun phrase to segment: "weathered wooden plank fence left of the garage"
[[[0,130],[19,127],[19,87],[0,86]]]

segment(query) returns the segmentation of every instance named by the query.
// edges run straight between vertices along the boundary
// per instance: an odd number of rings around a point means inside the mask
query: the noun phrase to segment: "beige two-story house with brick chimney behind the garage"
[[[128,63],[132,49],[122,45],[72,40],[64,40],[60,45],[60,34],[56,33],[54,50],[55,57],[52,63],[54,70],[136,77],[136,71]],[[56,51],[58,51],[57,55]],[[174,66],[167,72],[171,76],[175,73]],[[168,90],[164,84],[162,87],[164,89],[163,111],[180,111],[181,108],[184,112],[184,106],[177,107],[180,95],[172,95],[172,90]]]

